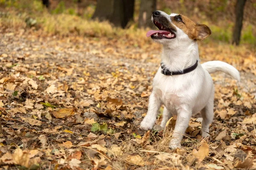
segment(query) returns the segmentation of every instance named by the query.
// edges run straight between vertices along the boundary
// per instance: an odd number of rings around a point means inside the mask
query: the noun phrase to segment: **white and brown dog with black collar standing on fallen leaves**
[[[144,130],[152,129],[163,104],[161,127],[171,116],[177,117],[170,149],[181,147],[180,142],[193,113],[201,111],[202,137],[209,136],[213,119],[214,85],[211,73],[222,71],[240,81],[239,71],[221,61],[199,63],[198,40],[209,37],[211,30],[182,14],[154,11],[152,22],[159,30],[148,31],[146,36],[163,45],[161,66],[154,79],[149,96],[148,112],[140,123]]]

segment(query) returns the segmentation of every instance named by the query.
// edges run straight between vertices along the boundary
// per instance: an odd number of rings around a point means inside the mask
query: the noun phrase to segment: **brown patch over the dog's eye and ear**
[[[192,40],[204,40],[212,33],[210,28],[204,24],[196,24],[188,17],[181,14],[171,17],[172,23],[180,28]]]

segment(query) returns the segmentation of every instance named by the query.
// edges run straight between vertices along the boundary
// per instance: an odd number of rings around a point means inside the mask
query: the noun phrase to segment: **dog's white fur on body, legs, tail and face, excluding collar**
[[[170,16],[161,11],[169,22]],[[153,19],[153,18],[152,18]],[[191,40],[187,34],[177,29],[176,38],[154,40],[163,44],[161,59],[166,68],[171,71],[183,70],[199,61],[198,44]],[[203,137],[209,135],[209,124],[213,119],[214,85],[210,73],[223,71],[239,80],[239,71],[233,66],[221,62],[210,61],[204,64],[198,62],[198,67],[187,74],[165,76],[161,73],[161,67],[153,79],[153,91],[149,97],[148,113],[140,124],[140,128],[152,129],[156,121],[160,105],[164,105],[163,120],[166,122],[172,115],[177,116],[176,125],[169,143],[170,148],[180,147],[181,139],[189,124],[193,113],[201,111],[203,118],[201,133]]]

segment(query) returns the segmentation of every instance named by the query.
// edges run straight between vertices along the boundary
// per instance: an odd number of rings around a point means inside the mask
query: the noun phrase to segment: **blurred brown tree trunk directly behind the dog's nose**
[[[152,12],[156,10],[157,0],[141,0],[140,1],[140,14],[139,14],[139,27],[152,27],[151,22]]]

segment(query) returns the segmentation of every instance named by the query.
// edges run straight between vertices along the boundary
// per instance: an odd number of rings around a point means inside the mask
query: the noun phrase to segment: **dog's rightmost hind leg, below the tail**
[[[201,133],[203,137],[209,136],[209,125],[213,119],[213,101],[214,101],[214,87],[212,87],[211,96],[207,105],[202,109],[201,115],[203,117]]]

